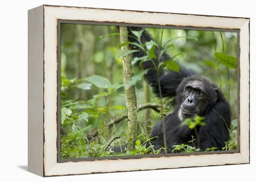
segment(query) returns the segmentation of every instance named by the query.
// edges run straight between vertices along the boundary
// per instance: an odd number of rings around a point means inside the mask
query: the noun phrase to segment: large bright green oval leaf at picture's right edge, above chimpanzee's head
[[[216,58],[216,60],[218,60],[223,65],[225,65],[229,68],[237,69],[237,59],[236,59],[236,57],[227,56],[225,54],[222,54],[221,52],[216,52],[214,54],[214,57]]]

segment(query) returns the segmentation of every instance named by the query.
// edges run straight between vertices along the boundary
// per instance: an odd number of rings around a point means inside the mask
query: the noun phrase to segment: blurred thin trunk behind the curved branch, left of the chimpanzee
[[[144,102],[149,103],[150,102],[150,93],[149,93],[149,86],[146,81],[143,82],[143,90],[144,90]],[[145,129],[145,135],[148,136],[148,125],[149,125],[149,114],[150,109],[145,109],[144,111],[144,129]]]

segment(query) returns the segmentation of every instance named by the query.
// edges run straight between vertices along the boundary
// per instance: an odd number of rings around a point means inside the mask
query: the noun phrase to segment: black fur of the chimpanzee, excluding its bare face
[[[128,27],[129,35],[133,35],[132,30],[140,31],[138,27]],[[152,40],[151,36],[144,30],[141,35],[141,43],[144,44]],[[134,42],[135,39],[129,37],[130,42]],[[132,46],[132,49],[138,49],[136,46]],[[156,56],[159,55],[159,50],[155,50]],[[144,56],[142,51],[135,52],[134,57]],[[163,54],[161,61],[167,61],[169,56]],[[156,77],[156,71],[152,66],[152,63],[145,62],[142,64],[143,69],[150,69],[145,75],[145,79],[153,88],[156,95],[159,96],[158,82]],[[225,145],[225,142],[229,140],[229,126],[230,126],[230,108],[228,102],[225,100],[221,90],[216,84],[209,82],[206,78],[196,74],[192,70],[185,69],[180,66],[180,73],[174,71],[168,71],[167,75],[163,72],[160,75],[161,90],[163,97],[175,97],[175,110],[169,114],[165,119],[165,131],[167,139],[168,152],[171,152],[172,146],[175,144],[189,144],[191,141],[191,135],[195,136],[194,130],[190,130],[188,126],[181,126],[181,119],[179,119],[178,113],[182,104],[182,93],[185,85],[188,81],[197,80],[203,83],[206,92],[201,100],[200,112],[198,115],[204,116],[205,126],[197,127],[200,140],[200,149],[204,151],[207,148],[218,147],[221,150]],[[217,93],[217,97],[216,97]],[[216,98],[216,99],[214,99]],[[163,147],[163,130],[162,122],[158,122],[153,126],[152,132],[149,136],[157,137],[153,140],[155,149]],[[196,144],[196,141],[195,141]]]

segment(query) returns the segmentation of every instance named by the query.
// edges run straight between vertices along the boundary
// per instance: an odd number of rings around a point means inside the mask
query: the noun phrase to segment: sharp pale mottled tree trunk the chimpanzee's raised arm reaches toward
[[[128,30],[125,26],[120,26],[120,41],[126,43],[128,41]],[[128,45],[121,48],[122,52],[129,50]],[[127,84],[133,77],[133,69],[131,65],[132,58],[130,55],[123,56],[123,80]],[[135,148],[135,141],[138,134],[139,119],[137,115],[137,98],[135,93],[135,87],[125,87],[127,102],[128,102],[128,146],[129,149],[133,150]]]

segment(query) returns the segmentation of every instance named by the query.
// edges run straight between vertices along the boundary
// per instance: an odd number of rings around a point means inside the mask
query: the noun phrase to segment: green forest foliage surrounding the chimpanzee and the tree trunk
[[[146,56],[134,57],[132,64],[146,61],[160,62],[159,57],[164,52],[171,55],[166,63],[159,63],[155,70],[179,72],[179,63],[188,69],[208,77],[217,83],[225,97],[228,95],[232,109],[232,124],[230,140],[222,149],[212,146],[206,151],[235,150],[237,147],[237,84],[236,84],[236,46],[237,35],[231,32],[223,33],[223,40],[218,31],[173,30],[150,28],[148,31],[155,41],[145,44],[126,42],[120,45],[116,26],[98,25],[61,25],[61,158],[103,157],[161,154],[163,148],[154,151],[152,145],[146,145],[152,138],[145,135],[142,127],[143,111],[138,112],[141,134],[137,138],[135,150],[127,149],[123,153],[115,153],[113,146],[126,144],[127,122],[125,118],[126,100],[124,99],[124,84],[122,82],[122,58],[137,50],[121,54],[121,47],[132,45],[141,48]],[[133,32],[136,39],[142,31]],[[222,51],[222,41],[225,52]],[[159,49],[160,55],[155,53]],[[220,53],[222,52],[222,53]],[[233,55],[233,56],[227,56]],[[227,77],[227,69],[230,77]],[[143,97],[143,75],[147,70],[135,69],[133,79],[126,86],[135,85],[138,105],[145,104]],[[150,94],[150,103],[161,106],[161,99]],[[162,119],[163,113],[172,113],[169,105],[173,99],[162,100],[160,113],[151,111],[149,131],[155,122]],[[147,104],[150,104],[147,103]],[[109,124],[124,117],[119,123],[108,127]],[[203,126],[202,118],[188,119],[182,122],[189,128]],[[116,136],[109,146],[110,141]],[[196,136],[189,144],[175,145],[173,152],[196,152],[198,147],[193,144]],[[108,147],[107,147],[108,146]],[[106,149],[107,148],[107,149]]]

